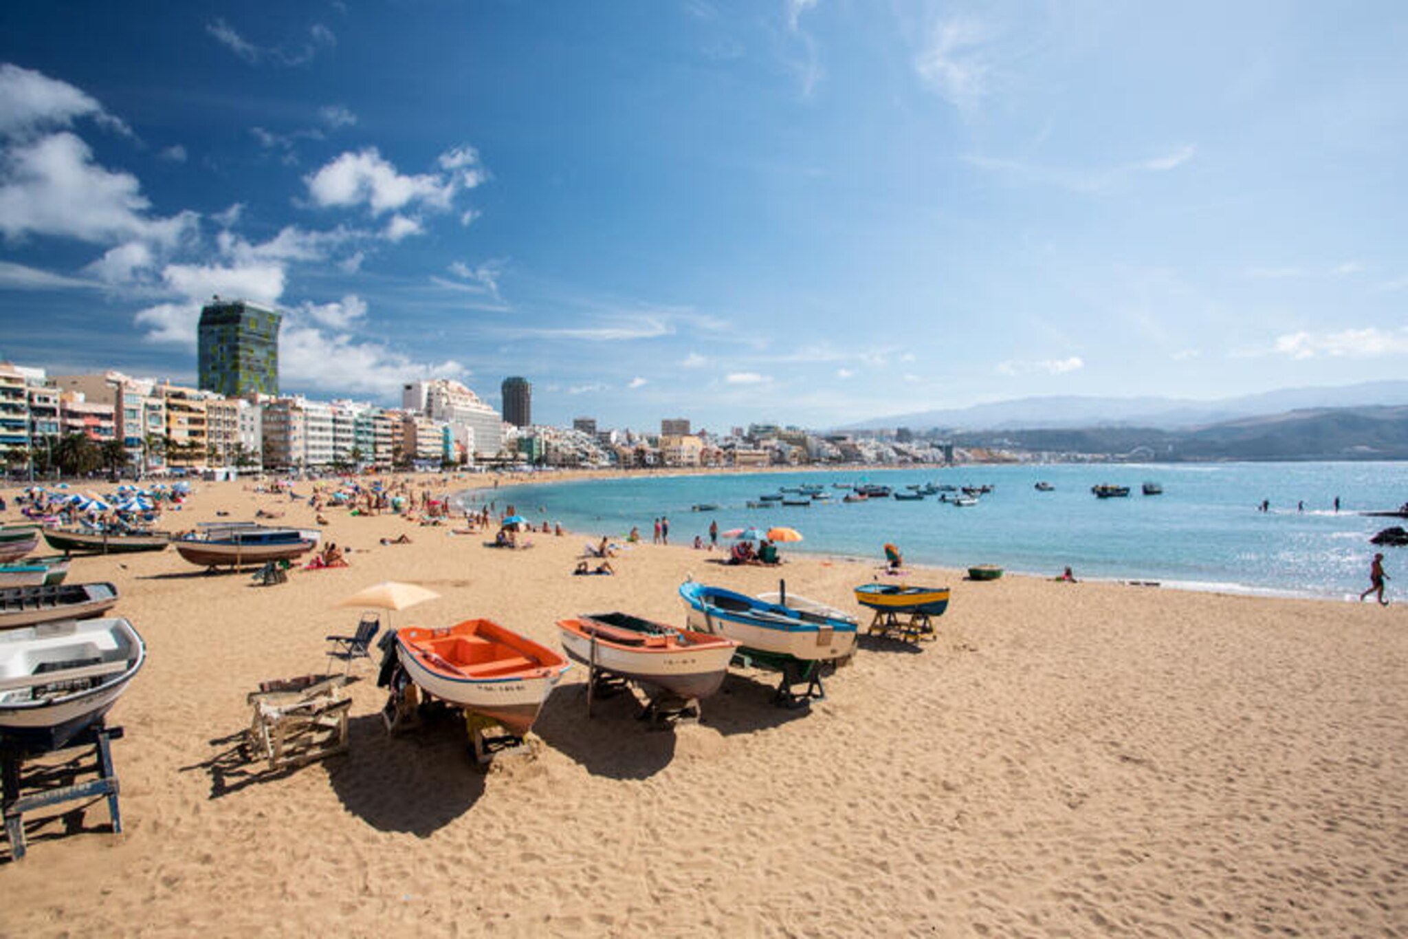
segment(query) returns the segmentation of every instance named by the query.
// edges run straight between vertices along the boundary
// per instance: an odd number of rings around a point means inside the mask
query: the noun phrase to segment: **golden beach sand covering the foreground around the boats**
[[[245,486],[199,484],[165,527],[260,507],[313,525],[306,503]],[[489,617],[558,648],[576,612],[681,624],[690,574],[753,593],[781,573],[857,614],[850,587],[876,576],[641,545],[615,577],[573,577],[605,532],[507,552],[327,515],[351,566],[280,586],[175,552],[75,562],[70,581],[120,586],[149,646],[110,718],[124,831],[100,801],[79,833],[52,821],[24,860],[0,852],[0,933],[1408,932],[1408,604],[914,570],[953,587],[938,639],[863,643],[810,710],[735,672],[701,724],[652,732],[622,698],[589,721],[573,667],[534,756],[483,773],[458,721],[389,738],[362,660],[351,752],[269,776],[231,756],[245,694],[324,670],[324,636],[358,619],[334,604],[380,580],[441,594],[393,626]],[[379,543],[401,532],[413,543]]]

